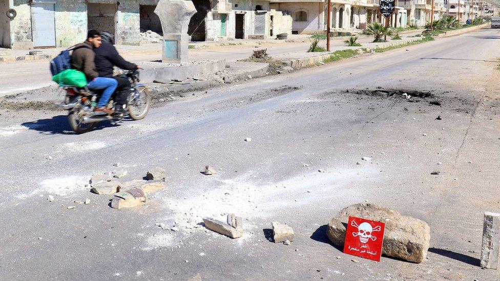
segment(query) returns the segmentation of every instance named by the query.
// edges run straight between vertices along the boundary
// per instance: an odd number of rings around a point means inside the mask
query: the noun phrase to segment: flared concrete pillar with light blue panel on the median
[[[155,9],[163,30],[162,61],[188,62],[188,26],[196,13],[192,1],[161,0]]]

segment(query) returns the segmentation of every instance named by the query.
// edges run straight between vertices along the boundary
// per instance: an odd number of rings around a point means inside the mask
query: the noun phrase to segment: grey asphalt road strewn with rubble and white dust
[[[2,111],[0,276],[496,280],[478,258],[483,212],[500,209],[499,40],[483,29],[224,85],[85,135],[63,113]],[[428,91],[442,105],[341,92],[377,87]],[[112,209],[85,182],[115,162],[127,180],[163,167],[168,188]],[[218,174],[201,175],[204,165]],[[329,219],[365,201],[426,221],[427,260],[354,263],[329,244]],[[242,238],[188,222],[226,212],[245,218]],[[290,246],[266,240],[272,221],[294,228]]]

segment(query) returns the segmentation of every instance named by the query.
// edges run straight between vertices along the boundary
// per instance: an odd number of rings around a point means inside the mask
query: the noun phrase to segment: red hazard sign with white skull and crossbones
[[[344,253],[380,262],[385,224],[349,217]]]

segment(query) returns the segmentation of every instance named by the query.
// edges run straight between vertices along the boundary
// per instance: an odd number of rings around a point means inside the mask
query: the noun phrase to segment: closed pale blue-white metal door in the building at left
[[[31,4],[31,29],[34,48],[55,47],[55,1]]]

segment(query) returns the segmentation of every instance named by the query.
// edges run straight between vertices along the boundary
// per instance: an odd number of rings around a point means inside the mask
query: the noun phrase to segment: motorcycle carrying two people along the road
[[[148,88],[139,83],[138,70],[123,71],[122,76],[127,77],[131,83],[124,111],[133,120],[144,119],[151,109],[151,94]],[[87,87],[77,88],[70,85],[61,87],[66,91],[66,96],[60,106],[68,110],[68,122],[78,134],[92,131],[101,121],[121,121],[126,117],[123,113],[108,115],[94,112],[99,92],[89,90]],[[115,102],[112,99],[108,103],[108,108],[115,109]]]

